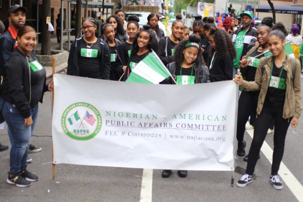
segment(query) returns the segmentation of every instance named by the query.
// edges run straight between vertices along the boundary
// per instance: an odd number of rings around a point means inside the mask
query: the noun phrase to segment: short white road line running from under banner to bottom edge
[[[151,202],[153,169],[143,169],[140,202]]]

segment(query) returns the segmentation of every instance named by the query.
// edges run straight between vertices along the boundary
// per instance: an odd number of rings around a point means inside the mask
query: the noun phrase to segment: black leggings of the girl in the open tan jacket
[[[271,175],[277,175],[284,153],[285,137],[291,118],[283,119],[283,105],[280,107],[263,106],[261,114],[255,120],[254,138],[248,153],[246,173],[252,175],[259,157],[266,132],[275,119],[274,153],[272,155]]]

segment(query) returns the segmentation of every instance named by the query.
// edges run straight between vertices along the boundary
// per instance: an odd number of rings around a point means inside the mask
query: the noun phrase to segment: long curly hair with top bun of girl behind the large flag
[[[150,51],[158,51],[158,42],[156,40],[156,35],[155,32],[150,30],[150,26],[149,25],[143,25],[143,29],[141,29],[136,36],[134,37],[134,41],[132,43],[132,53],[131,55],[135,55],[137,54],[137,52],[139,51],[139,46],[138,46],[138,37],[140,35],[141,32],[147,32],[149,34],[149,44],[148,44],[148,49]]]

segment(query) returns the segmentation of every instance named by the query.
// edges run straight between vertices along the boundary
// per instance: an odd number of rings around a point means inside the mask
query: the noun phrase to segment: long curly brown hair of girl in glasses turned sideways
[[[211,49],[211,56],[216,51],[218,53],[218,59],[224,59],[225,53],[230,52],[231,57],[236,58],[237,52],[235,46],[230,36],[223,29],[212,28],[209,35],[214,38],[216,43],[215,50]]]

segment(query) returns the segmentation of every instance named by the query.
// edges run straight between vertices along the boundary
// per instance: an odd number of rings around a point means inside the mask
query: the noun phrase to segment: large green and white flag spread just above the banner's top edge
[[[171,76],[157,54],[152,51],[132,69],[126,82],[158,84]]]

